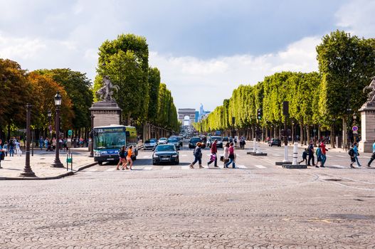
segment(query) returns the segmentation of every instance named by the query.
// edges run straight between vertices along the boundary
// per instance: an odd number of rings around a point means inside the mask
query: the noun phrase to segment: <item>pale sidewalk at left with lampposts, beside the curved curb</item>
[[[88,157],[90,152],[88,148],[72,148],[70,149],[73,152],[73,171],[66,170],[66,152],[60,151],[60,161],[64,164],[64,168],[53,168],[51,164],[53,159],[55,159],[55,152],[46,152],[46,149],[43,148],[41,151],[39,148],[34,148],[34,155],[31,157],[30,153],[30,166],[36,177],[24,177],[20,176],[25,167],[25,152],[21,157],[14,155],[14,157],[5,157],[4,161],[1,161],[0,169],[0,180],[47,180],[47,179],[59,179],[64,176],[73,175],[75,172],[85,169],[89,166],[96,164],[93,157]]]

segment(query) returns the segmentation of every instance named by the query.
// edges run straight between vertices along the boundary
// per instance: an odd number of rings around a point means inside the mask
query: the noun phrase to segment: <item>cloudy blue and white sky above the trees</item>
[[[0,0],[0,58],[93,80],[100,45],[134,33],[176,107],[211,111],[238,85],[316,71],[315,47],[332,31],[374,38],[374,13],[375,0]]]

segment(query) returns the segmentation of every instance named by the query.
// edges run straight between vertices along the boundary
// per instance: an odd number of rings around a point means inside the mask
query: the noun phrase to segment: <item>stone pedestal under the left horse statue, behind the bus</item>
[[[95,102],[90,111],[95,116],[93,127],[121,124],[121,108],[114,100]]]

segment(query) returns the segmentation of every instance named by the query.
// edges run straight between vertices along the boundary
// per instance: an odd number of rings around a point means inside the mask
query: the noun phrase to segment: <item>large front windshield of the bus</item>
[[[121,149],[126,145],[126,133],[122,127],[95,130],[94,149]]]

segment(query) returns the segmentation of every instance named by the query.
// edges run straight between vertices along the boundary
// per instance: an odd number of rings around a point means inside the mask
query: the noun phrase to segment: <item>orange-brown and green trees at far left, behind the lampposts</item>
[[[90,127],[90,108],[93,92],[84,73],[68,68],[53,70],[23,70],[13,60],[0,59],[0,137],[9,138],[11,132],[26,125],[26,103],[31,103],[31,125],[36,134],[46,136],[54,124],[54,96],[59,91],[62,129],[78,130]],[[48,119],[51,111],[51,120]]]

